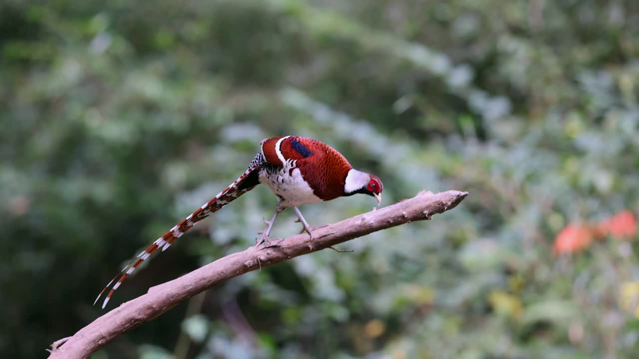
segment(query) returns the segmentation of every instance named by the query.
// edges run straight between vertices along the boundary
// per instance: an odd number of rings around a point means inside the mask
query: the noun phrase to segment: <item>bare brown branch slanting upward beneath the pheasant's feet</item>
[[[381,229],[415,220],[431,219],[436,213],[457,206],[466,195],[468,192],[448,191],[432,194],[422,191],[415,197],[392,206],[363,213],[335,224],[314,227],[313,241],[309,241],[308,234],[298,234],[286,240],[271,240],[264,245],[249,247],[242,252],[222,257],[178,279],[151,287],[148,293],[123,303],[95,319],[93,323],[65,340],[64,344],[59,340],[52,345],[49,359],[87,358],[118,335],[160,316],[182,301],[224,280]]]

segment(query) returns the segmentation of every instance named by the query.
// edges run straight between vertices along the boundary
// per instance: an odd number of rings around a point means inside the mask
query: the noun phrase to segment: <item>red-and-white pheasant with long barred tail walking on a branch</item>
[[[102,303],[104,309],[114,291],[128,275],[158,248],[162,248],[164,252],[197,222],[252,190],[259,183],[270,188],[277,196],[278,202],[273,217],[266,222],[266,229],[258,232],[262,234],[261,240],[258,241],[256,238],[258,245],[268,239],[275,218],[286,208],[293,208],[299,222],[304,226],[302,233],[306,231],[312,240],[311,226],[302,216],[298,206],[353,194],[371,195],[380,205],[383,190],[380,178],[353,169],[341,153],[323,142],[297,136],[264,139],[260,142],[260,150],[250,162],[249,169],[242,176],[142,250],[102,289],[93,304],[95,305],[100,296],[114,284]]]

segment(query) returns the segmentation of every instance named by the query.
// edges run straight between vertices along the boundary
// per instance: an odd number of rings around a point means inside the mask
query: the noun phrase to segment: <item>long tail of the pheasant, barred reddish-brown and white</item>
[[[111,284],[113,284],[111,291],[109,291],[109,294],[107,294],[106,298],[104,298],[104,303],[102,303],[102,309],[104,309],[104,307],[106,307],[107,303],[109,302],[109,299],[111,299],[114,291],[118,289],[122,282],[124,282],[124,280],[127,279],[127,277],[131,273],[133,273],[137,266],[144,262],[145,259],[150,257],[151,254],[153,254],[158,248],[162,248],[162,252],[164,252],[166,248],[169,248],[169,246],[175,240],[180,238],[182,234],[186,233],[186,231],[189,231],[189,229],[191,229],[191,227],[193,227],[197,222],[208,217],[208,215],[210,215],[211,213],[220,210],[220,208],[226,206],[227,204],[229,204],[229,202],[233,201],[237,197],[240,197],[240,195],[245,194],[253,187],[258,185],[260,160],[260,153],[258,153],[258,156],[256,156],[256,158],[251,162],[249,169],[247,169],[242,174],[242,176],[240,176],[240,178],[236,179],[235,182],[233,182],[229,187],[226,187],[226,189],[213,197],[213,199],[204,203],[203,206],[190,214],[189,217],[184,218],[179,224],[171,228],[170,231],[164,233],[163,236],[161,236],[155,242],[151,243],[151,245],[142,250],[142,252],[140,252],[137,257],[135,257],[130,263],[128,263],[127,266],[125,266],[115,277],[113,277],[111,282],[109,282],[109,284],[107,284],[107,286],[102,289],[100,294],[98,294],[98,298],[95,298],[95,302],[93,302],[93,305],[98,302],[100,296],[102,296],[102,294],[104,294],[104,292],[109,289],[109,287],[111,287]]]

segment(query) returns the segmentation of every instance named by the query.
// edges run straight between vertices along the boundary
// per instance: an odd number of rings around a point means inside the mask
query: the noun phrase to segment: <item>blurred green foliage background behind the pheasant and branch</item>
[[[128,259],[296,134],[378,174],[384,204],[470,195],[230,280],[94,358],[635,357],[638,56],[635,0],[4,0],[0,356],[42,358],[103,314]],[[252,245],[274,205],[244,195],[108,309]]]

